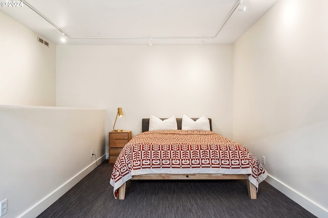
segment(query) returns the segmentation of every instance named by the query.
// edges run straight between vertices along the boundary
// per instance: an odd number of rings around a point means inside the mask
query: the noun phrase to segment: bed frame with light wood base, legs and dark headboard
[[[164,120],[166,118],[160,118]],[[194,121],[198,118],[191,118]],[[178,129],[181,129],[182,118],[176,118]],[[209,118],[210,128],[212,130],[212,120]],[[148,131],[149,119],[142,119],[142,132]],[[241,175],[229,175],[229,174],[209,174],[209,173],[197,173],[197,174],[146,174],[132,176],[131,180],[247,180],[248,195],[251,199],[257,198],[256,187],[248,180],[248,174]],[[118,199],[125,199],[126,183],[118,188]]]

